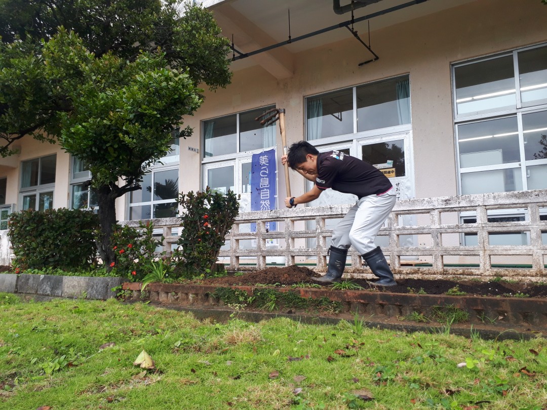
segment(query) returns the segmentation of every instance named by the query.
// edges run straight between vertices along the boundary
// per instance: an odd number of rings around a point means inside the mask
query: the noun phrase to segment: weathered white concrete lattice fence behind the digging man
[[[278,266],[303,263],[324,271],[330,228],[350,207],[244,212],[226,238],[219,261],[228,270],[261,269],[271,263]],[[468,221],[472,218],[472,223],[463,223],[463,214],[468,215]],[[492,216],[499,214],[513,217]],[[546,280],[546,215],[547,190],[404,200],[395,204],[378,242],[394,273],[400,277],[503,276]],[[125,223],[138,226],[138,222]],[[277,230],[269,229],[271,222],[277,222]],[[178,219],[154,219],[153,223],[165,237],[164,250],[170,251],[178,239]],[[255,224],[256,232],[251,232],[251,224]],[[3,265],[8,265],[13,256],[8,251],[6,233],[0,231]],[[521,238],[521,242],[497,244],[496,238],[511,235]],[[473,239],[471,243],[466,242],[469,238]],[[369,276],[357,251],[350,248],[348,255],[346,272]]]

